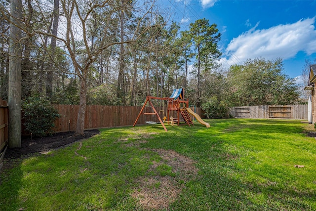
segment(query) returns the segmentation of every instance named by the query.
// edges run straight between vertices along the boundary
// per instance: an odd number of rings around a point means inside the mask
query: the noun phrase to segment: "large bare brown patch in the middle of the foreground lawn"
[[[155,170],[161,164],[172,167],[176,176],[145,176],[140,178],[139,187],[132,197],[148,210],[168,209],[169,204],[177,199],[185,182],[196,177],[195,162],[172,150],[153,149],[162,158],[162,162],[153,162],[149,171]],[[149,174],[150,175],[150,174]],[[183,181],[180,183],[180,181]]]

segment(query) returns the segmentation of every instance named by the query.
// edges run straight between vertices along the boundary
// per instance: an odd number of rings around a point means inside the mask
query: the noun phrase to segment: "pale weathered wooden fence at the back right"
[[[308,105],[261,105],[230,108],[236,118],[308,119]]]

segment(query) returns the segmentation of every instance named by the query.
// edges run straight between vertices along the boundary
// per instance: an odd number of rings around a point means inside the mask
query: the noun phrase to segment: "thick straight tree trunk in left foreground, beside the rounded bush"
[[[11,0],[9,50],[9,148],[21,147],[21,28],[22,2]]]

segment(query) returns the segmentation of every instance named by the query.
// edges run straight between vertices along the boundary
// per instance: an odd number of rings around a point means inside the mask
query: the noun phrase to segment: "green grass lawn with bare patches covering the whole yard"
[[[11,160],[0,175],[0,210],[316,210],[316,140],[306,136],[313,125],[206,122],[210,128],[196,122],[168,132],[161,125],[102,129]]]

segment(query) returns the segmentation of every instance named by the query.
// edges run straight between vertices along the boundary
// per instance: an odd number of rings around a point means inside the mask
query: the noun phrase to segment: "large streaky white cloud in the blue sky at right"
[[[227,46],[221,62],[240,64],[248,58],[293,58],[299,51],[308,55],[316,52],[315,17],[301,19],[293,24],[278,25],[256,30],[259,23],[249,31],[234,38]]]

